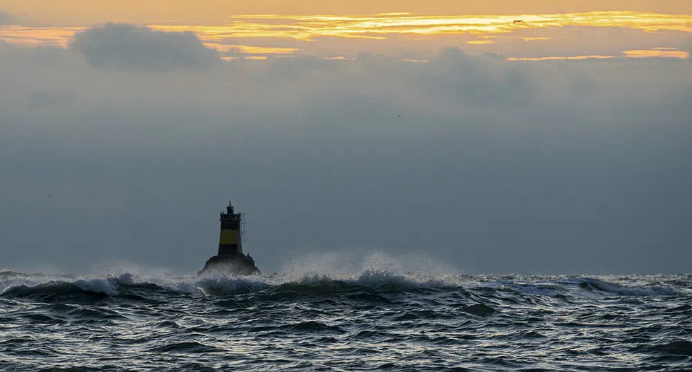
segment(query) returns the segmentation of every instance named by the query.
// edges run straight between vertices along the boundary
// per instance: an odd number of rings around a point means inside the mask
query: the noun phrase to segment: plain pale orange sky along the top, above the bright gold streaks
[[[522,15],[555,12],[632,10],[692,14],[690,0],[0,0],[0,9],[39,22],[88,26],[105,21],[223,24],[238,14],[369,15]]]

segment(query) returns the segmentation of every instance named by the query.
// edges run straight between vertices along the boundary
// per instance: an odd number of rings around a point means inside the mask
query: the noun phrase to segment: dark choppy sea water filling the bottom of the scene
[[[0,273],[6,371],[682,371],[692,275]]]

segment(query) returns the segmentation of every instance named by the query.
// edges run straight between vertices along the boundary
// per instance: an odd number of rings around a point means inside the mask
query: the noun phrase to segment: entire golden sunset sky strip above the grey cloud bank
[[[448,46],[512,60],[686,58],[692,45],[691,0],[0,0],[0,10],[17,19],[0,28],[5,42],[66,46],[75,32],[115,21],[192,31],[227,58],[369,51],[425,60]]]

